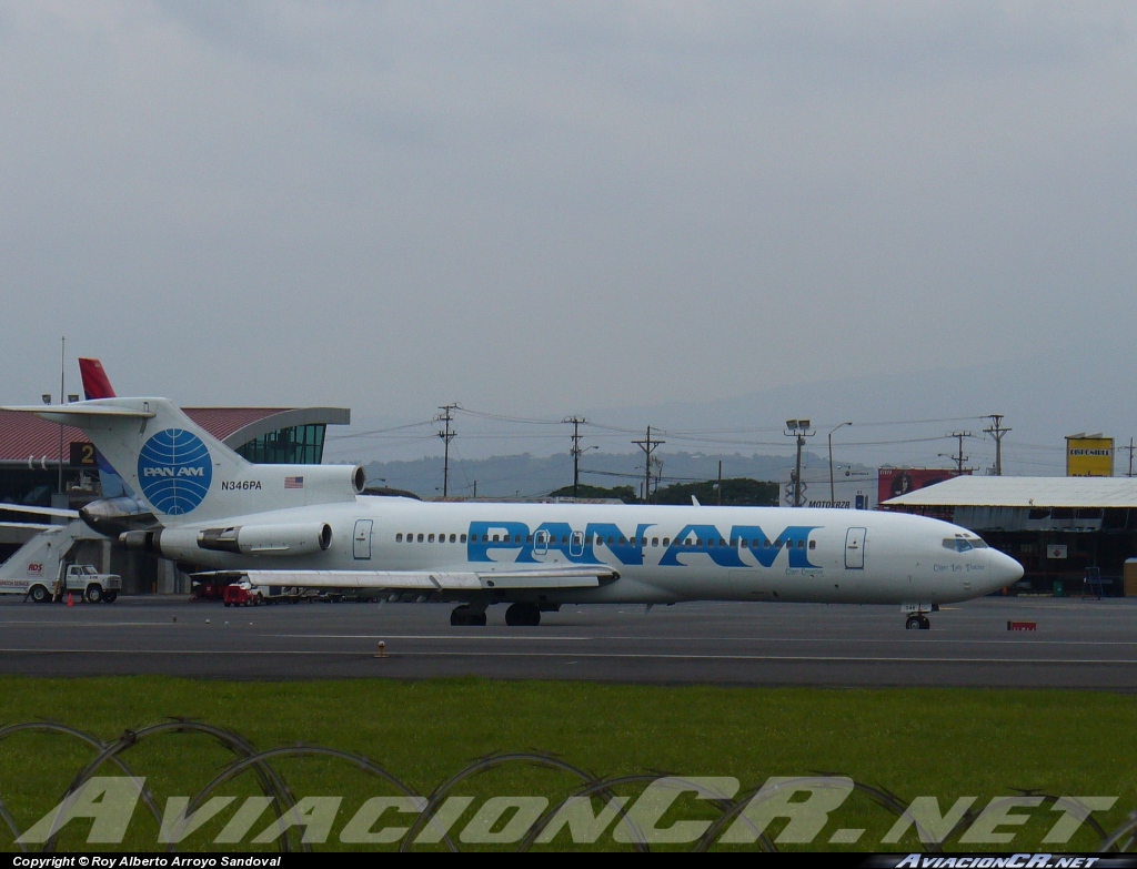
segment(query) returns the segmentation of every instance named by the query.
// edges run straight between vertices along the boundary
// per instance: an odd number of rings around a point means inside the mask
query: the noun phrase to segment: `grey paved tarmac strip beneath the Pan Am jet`
[[[897,607],[565,607],[536,628],[506,627],[504,607],[484,628],[454,628],[450,609],[11,598],[0,600],[0,672],[1137,688],[1137,600],[986,598],[933,613],[930,630],[905,630]],[[1037,629],[1009,632],[1009,620]]]

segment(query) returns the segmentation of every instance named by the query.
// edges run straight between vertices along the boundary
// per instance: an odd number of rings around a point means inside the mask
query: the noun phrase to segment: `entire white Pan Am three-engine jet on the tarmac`
[[[965,528],[833,509],[422,502],[362,495],[363,468],[252,465],[166,399],[8,408],[83,429],[160,527],[119,542],[254,585],[459,604],[451,625],[537,625],[566,603],[938,604],[1022,576]]]

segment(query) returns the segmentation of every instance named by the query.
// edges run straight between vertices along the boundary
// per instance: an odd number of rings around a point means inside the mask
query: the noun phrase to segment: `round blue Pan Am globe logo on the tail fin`
[[[153,508],[167,516],[193,510],[209,492],[213,461],[209,450],[192,432],[158,432],[139,453],[139,483]]]

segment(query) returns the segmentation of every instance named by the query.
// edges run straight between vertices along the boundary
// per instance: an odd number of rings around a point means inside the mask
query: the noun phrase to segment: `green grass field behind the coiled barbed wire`
[[[936,796],[944,811],[961,796],[978,797],[974,805],[980,808],[993,797],[1028,789],[1055,796],[1115,796],[1112,809],[1095,816],[1106,829],[1137,809],[1137,697],[1123,694],[475,679],[223,683],[13,677],[0,679],[0,719],[6,725],[47,719],[103,741],[126,729],[188,718],[234,730],[258,750],[298,743],[334,747],[370,758],[421,794],[429,794],[478,758],[538,751],[601,778],[634,774],[733,777],[740,783],[739,793],[770,776],[844,775],[888,788],[905,805],[915,796]],[[69,736],[14,734],[0,742],[0,799],[26,829],[59,801],[93,757],[90,746]],[[122,757],[136,775],[147,777],[159,807],[172,795],[193,796],[233,759],[208,736],[176,733],[144,740]],[[331,835],[314,846],[317,850],[345,847],[339,833],[359,805],[368,797],[397,793],[337,759],[292,758],[274,763],[297,797],[343,797]],[[117,774],[109,766],[103,771]],[[475,800],[451,834],[457,841],[490,796],[543,796],[555,805],[579,786],[578,779],[562,771],[505,764],[454,791]],[[642,789],[642,784],[636,784],[616,792],[634,796]],[[243,797],[259,789],[246,774],[216,793]],[[213,841],[239,802],[190,835],[180,850],[219,849]],[[1030,818],[1022,826],[999,827],[1014,838],[996,850],[1039,847],[1060,817],[1048,803],[1016,811]],[[715,817],[716,811],[703,801],[684,795],[661,826],[675,818]],[[385,824],[395,819],[384,816]],[[242,849],[267,820],[266,814],[252,828]],[[401,818],[409,820],[409,816]],[[839,827],[865,830],[850,846],[854,850],[919,847],[911,830],[895,845],[880,844],[894,821],[893,814],[854,794],[807,847],[840,847],[829,844],[830,834]],[[777,836],[785,824],[774,821],[767,833]],[[73,821],[60,842],[81,847],[89,829],[90,821]],[[157,822],[140,807],[125,844],[155,850],[157,830]],[[1082,827],[1067,845],[1047,850],[1094,850],[1098,842],[1097,834]],[[3,844],[15,846],[7,832]],[[551,846],[571,845],[564,834]],[[614,846],[611,835],[599,846]]]

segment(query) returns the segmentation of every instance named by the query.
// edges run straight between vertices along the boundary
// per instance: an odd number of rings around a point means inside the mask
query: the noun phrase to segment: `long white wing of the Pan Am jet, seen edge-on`
[[[514,591],[518,588],[596,588],[620,578],[608,567],[537,570],[218,570],[194,576],[244,576],[254,585],[304,588],[391,588],[422,592]]]

